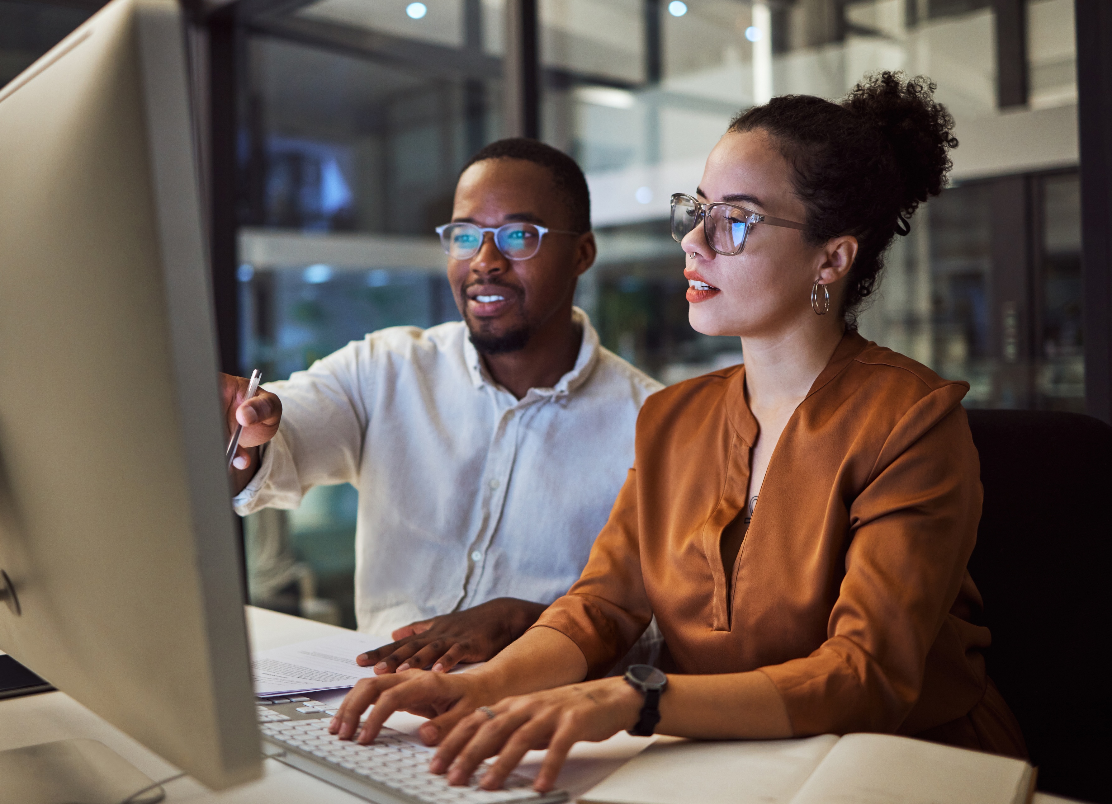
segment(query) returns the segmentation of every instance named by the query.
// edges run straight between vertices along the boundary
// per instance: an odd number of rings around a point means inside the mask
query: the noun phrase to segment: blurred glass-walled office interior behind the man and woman
[[[101,4],[0,0],[0,85]],[[221,363],[278,379],[367,331],[457,319],[433,227],[469,155],[508,135],[587,173],[599,251],[577,301],[608,348],[666,384],[737,363],[736,339],[687,325],[669,195],[739,109],[901,69],[937,82],[961,146],[862,334],[967,380],[967,407],[1110,420],[1101,6],[191,2]],[[355,495],[246,520],[254,602],[354,627]]]

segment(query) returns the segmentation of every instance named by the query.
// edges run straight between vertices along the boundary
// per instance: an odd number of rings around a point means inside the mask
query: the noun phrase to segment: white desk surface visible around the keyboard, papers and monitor
[[[290,617],[262,608],[247,607],[247,624],[251,647],[256,651],[288,645],[341,631],[331,625]],[[401,718],[410,717],[401,715]],[[405,727],[405,722],[390,725]],[[172,776],[177,770],[158,755],[92,714],[64,693],[43,693],[0,701],[0,751],[23,745],[70,737],[99,740],[153,780]],[[613,773],[623,762],[636,755],[652,741],[618,734],[605,743],[579,743],[573,748],[560,775],[560,786],[573,795]],[[536,773],[542,752],[526,757],[523,771]],[[530,762],[532,760],[532,762]],[[274,760],[264,765],[262,778],[249,784],[214,793],[191,778],[166,785],[169,802],[203,802],[205,804],[361,804],[350,793],[319,782]],[[530,773],[532,775],[532,773]],[[1058,804],[1065,798],[1036,793],[1035,804]]]

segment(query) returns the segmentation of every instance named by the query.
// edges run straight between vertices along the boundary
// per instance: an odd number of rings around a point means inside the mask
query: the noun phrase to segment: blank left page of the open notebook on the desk
[[[596,804],[787,804],[837,744],[806,740],[661,742],[587,791]]]

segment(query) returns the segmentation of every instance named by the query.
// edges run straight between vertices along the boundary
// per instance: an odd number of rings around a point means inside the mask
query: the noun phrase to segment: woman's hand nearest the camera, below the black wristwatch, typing
[[[459,677],[459,676],[449,676]],[[568,751],[579,741],[602,742],[637,722],[644,697],[622,677],[569,684],[504,698],[473,711],[440,743],[429,770],[466,784],[479,764],[497,755],[479,781],[497,790],[527,751],[547,748],[534,790],[555,787]]]

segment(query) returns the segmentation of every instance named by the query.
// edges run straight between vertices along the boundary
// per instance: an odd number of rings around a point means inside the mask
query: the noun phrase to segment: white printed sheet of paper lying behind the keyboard
[[[256,695],[295,695],[321,689],[344,689],[375,675],[355,657],[393,639],[348,631],[317,639],[260,651],[251,657]]]

